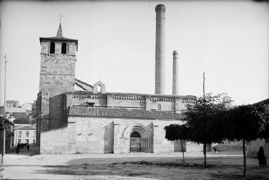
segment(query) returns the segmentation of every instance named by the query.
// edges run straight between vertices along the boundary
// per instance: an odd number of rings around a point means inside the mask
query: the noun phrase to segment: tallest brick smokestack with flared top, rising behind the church
[[[155,94],[165,94],[165,6],[156,11]]]

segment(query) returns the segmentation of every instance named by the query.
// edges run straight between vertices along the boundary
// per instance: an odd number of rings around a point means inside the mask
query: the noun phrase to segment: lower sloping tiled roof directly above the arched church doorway
[[[181,120],[183,115],[174,111],[159,111],[114,107],[71,106],[69,116]]]

